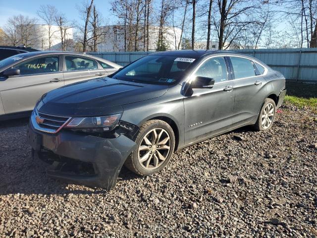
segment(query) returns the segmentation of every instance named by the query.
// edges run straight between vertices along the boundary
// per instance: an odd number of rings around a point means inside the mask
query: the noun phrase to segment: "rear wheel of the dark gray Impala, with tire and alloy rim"
[[[268,130],[272,127],[275,119],[276,106],[273,99],[266,98],[261,108],[259,118],[254,125],[256,130]]]

